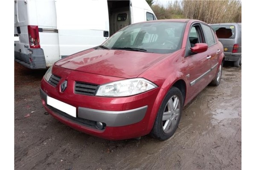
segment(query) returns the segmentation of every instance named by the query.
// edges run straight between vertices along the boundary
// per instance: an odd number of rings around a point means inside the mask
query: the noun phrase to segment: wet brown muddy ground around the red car
[[[224,65],[221,84],[186,105],[175,135],[163,142],[108,141],[58,122],[41,104],[45,72],[15,62],[16,170],[241,169],[241,68]]]

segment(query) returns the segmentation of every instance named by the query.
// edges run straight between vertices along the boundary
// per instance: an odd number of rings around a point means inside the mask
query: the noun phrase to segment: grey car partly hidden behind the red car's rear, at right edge
[[[233,61],[234,66],[242,65],[241,23],[209,24],[224,47],[225,61]]]

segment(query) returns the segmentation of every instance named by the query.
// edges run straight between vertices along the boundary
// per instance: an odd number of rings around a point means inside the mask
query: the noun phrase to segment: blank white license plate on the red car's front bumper
[[[56,108],[60,111],[63,111],[70,116],[76,117],[76,107],[71,106],[67,103],[61,102],[57,99],[54,99],[50,96],[47,96],[47,104],[52,106],[53,108]]]

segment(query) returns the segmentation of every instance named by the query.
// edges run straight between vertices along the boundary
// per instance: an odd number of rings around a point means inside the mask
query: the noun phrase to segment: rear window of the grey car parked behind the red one
[[[213,31],[218,38],[235,38],[236,29],[235,26],[212,26]]]

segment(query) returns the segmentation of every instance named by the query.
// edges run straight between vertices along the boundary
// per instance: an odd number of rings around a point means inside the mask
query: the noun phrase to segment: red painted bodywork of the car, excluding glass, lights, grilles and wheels
[[[76,108],[84,107],[107,111],[126,111],[147,105],[148,109],[143,120],[132,125],[120,127],[106,126],[105,130],[97,130],[79,125],[63,116],[55,114],[43,102],[47,112],[60,122],[74,129],[105,139],[129,139],[150,133],[161,102],[168,90],[176,82],[184,83],[184,105],[186,105],[214,79],[218,72],[218,67],[224,59],[223,46],[218,42],[216,36],[215,39],[217,42],[209,46],[207,51],[192,56],[185,56],[186,43],[191,25],[203,22],[198,20],[164,20],[163,22],[172,21],[186,23],[180,50],[171,54],[155,54],[139,51],[92,48],[61,59],[54,64],[52,74],[61,77],[56,88],[50,85],[44,78],[41,81],[41,89],[45,94]],[[220,52],[217,52],[218,50]],[[218,65],[213,67],[216,64]],[[211,72],[200,79],[196,85],[190,85],[193,80],[211,68],[213,68]],[[148,79],[158,87],[141,94],[125,97],[86,96],[74,93],[74,81],[102,85],[136,77]],[[69,80],[68,83],[70,84],[64,93],[62,93],[59,84],[64,80]]]

